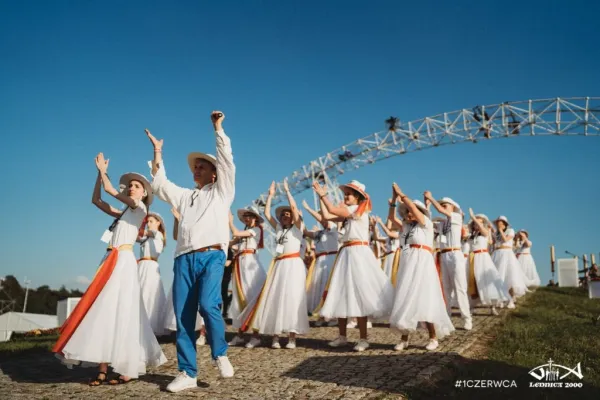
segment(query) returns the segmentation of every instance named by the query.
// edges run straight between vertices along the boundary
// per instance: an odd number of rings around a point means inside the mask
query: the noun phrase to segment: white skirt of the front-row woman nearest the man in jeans
[[[301,258],[277,261],[267,274],[262,296],[248,303],[237,318],[237,326],[241,326],[256,306],[249,328],[266,335],[307,333],[310,326],[306,313],[305,282],[306,266]]]

